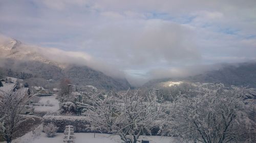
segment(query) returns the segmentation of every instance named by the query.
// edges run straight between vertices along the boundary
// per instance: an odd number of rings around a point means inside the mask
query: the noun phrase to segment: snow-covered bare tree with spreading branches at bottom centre
[[[88,108],[92,127],[118,134],[123,141],[132,143],[141,134],[151,134],[162,112],[155,96],[141,95],[139,90],[94,98]]]

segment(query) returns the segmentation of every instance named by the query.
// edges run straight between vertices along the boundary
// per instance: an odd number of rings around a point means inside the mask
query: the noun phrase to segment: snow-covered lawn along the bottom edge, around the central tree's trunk
[[[14,143],[62,143],[63,142],[63,133],[57,133],[53,138],[46,137],[45,133],[41,133],[38,136],[33,135],[31,132],[15,139]],[[141,136],[139,140],[150,140],[151,143],[175,143],[172,137],[161,137],[161,136]],[[96,134],[94,138],[94,133],[75,133],[75,143],[121,143],[120,137],[118,135],[110,134]]]

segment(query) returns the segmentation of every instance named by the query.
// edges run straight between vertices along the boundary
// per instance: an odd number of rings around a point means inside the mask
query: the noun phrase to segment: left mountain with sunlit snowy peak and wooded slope
[[[41,47],[25,45],[17,40],[0,45],[0,74],[28,81],[30,85],[56,87],[63,78],[75,85],[93,85],[98,89],[126,90],[130,87],[125,78],[114,78],[88,66],[60,63],[40,54]],[[47,80],[52,79],[53,83]],[[50,85],[50,86],[49,86]],[[52,86],[52,87],[51,87]]]

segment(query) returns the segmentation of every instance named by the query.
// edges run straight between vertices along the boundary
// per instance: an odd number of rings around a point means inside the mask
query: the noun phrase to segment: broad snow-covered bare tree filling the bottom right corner
[[[162,133],[185,142],[246,142],[253,122],[244,110],[243,90],[219,84],[201,92],[204,95],[183,95],[172,103]]]

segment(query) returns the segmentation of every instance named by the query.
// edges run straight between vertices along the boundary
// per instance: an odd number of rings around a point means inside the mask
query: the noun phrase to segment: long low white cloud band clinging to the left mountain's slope
[[[3,36],[0,34],[0,47],[6,48],[13,46],[13,39]],[[104,61],[94,58],[92,55],[86,52],[76,52],[76,51],[66,51],[53,47],[39,47],[36,45],[28,45],[21,43],[15,47],[18,51],[18,54],[14,57],[18,58],[16,60],[35,60],[35,61],[45,61],[45,59],[57,62],[61,68],[66,68],[67,64],[76,64],[79,66],[88,66],[94,70],[101,71],[106,75],[115,77],[115,78],[124,78],[125,74],[123,71],[118,70],[117,67]],[[11,50],[11,49],[9,49]],[[11,52],[13,53],[13,52]],[[9,52],[3,52],[0,58],[3,60],[0,62],[0,65],[5,64],[5,58],[12,58],[13,55]],[[48,62],[47,62],[48,63]],[[115,69],[115,70],[113,70]]]

